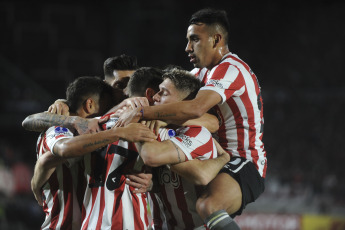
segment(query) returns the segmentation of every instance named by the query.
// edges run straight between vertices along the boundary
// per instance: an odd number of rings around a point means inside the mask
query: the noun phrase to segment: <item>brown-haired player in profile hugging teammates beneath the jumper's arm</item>
[[[167,72],[163,79],[159,86],[160,91],[153,97],[155,106],[192,99],[200,88],[200,82],[183,70]],[[163,222],[166,222],[168,229],[194,229],[204,224],[195,209],[197,197],[203,187],[196,186],[195,183],[203,180],[201,183],[206,185],[230,158],[222,151],[220,157],[213,159],[217,157],[217,150],[211,133],[202,126],[180,127],[176,130],[176,136],[170,135],[171,137],[167,132],[173,130],[161,129],[159,141],[138,144],[140,156],[146,165],[163,166],[157,170],[159,191],[150,194],[154,203],[155,229],[164,228]],[[201,166],[199,160],[205,159],[213,161],[204,161]],[[189,162],[182,163],[185,161]],[[197,171],[193,173],[192,169]],[[204,178],[194,180],[195,177]],[[205,181],[206,178],[209,180]],[[162,212],[158,212],[155,207],[157,205]]]

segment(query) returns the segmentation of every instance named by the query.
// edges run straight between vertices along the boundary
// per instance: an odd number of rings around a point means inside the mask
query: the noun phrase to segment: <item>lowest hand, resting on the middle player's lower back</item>
[[[149,192],[152,189],[152,173],[128,174],[126,178],[126,184],[135,188],[133,193]]]

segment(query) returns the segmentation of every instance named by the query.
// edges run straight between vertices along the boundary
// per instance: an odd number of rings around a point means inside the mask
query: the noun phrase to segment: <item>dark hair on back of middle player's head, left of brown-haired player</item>
[[[127,84],[128,96],[144,97],[147,88],[158,92],[159,85],[163,81],[163,73],[163,70],[154,67],[139,68],[133,73]]]

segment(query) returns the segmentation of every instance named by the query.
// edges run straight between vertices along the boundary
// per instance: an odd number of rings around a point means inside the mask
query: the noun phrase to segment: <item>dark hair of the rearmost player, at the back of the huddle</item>
[[[114,70],[136,70],[138,68],[137,58],[126,54],[110,57],[103,64],[105,76],[113,76]]]

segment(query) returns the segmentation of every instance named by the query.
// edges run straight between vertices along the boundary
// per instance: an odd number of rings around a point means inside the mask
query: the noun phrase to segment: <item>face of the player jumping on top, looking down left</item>
[[[214,39],[205,24],[190,25],[187,29],[187,46],[189,61],[197,68],[212,68],[214,56]]]

